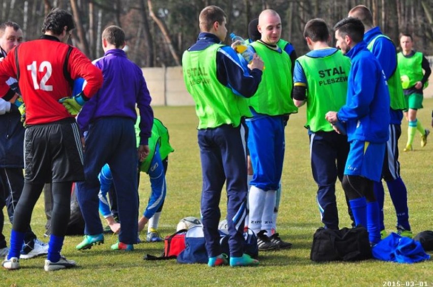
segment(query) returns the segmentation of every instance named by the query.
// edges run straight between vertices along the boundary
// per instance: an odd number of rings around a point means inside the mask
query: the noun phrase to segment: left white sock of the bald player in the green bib
[[[265,207],[266,192],[252,185],[250,188],[250,221],[248,227],[256,234],[262,230],[262,214]]]

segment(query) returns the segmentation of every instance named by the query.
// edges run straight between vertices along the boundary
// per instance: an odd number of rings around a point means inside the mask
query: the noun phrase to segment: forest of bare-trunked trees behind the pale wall
[[[198,16],[208,5],[224,9],[229,33],[245,38],[248,23],[262,10],[274,9],[282,19],[282,38],[294,45],[299,56],[308,51],[303,39],[303,27],[308,20],[323,18],[331,29],[359,4],[372,10],[375,25],[396,46],[399,33],[410,33],[415,48],[431,54],[433,0],[0,0],[0,20],[17,22],[24,41],[29,41],[41,35],[44,16],[53,7],[66,9],[77,25],[71,44],[89,58],[103,55],[101,32],[114,24],[125,30],[128,55],[137,65],[170,67],[180,66],[183,51],[196,42]],[[227,36],[226,44],[229,41]]]

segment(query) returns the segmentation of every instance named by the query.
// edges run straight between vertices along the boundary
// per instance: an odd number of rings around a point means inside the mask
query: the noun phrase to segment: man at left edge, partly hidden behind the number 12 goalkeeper
[[[3,60],[7,53],[22,42],[22,30],[15,22],[5,22],[0,25],[0,57]],[[20,94],[18,82],[15,78],[9,78],[8,85],[17,94]],[[24,126],[21,122],[21,114],[18,107],[22,104],[22,99],[15,100],[14,104],[9,104],[8,112],[0,115],[0,206],[6,204],[9,220],[14,218],[15,207],[21,197],[24,186],[23,142]],[[0,211],[0,256],[5,257],[8,253],[5,237],[2,234],[4,223],[3,211]],[[29,259],[48,253],[48,244],[39,241],[30,226],[24,236],[24,245],[21,250],[20,259]]]

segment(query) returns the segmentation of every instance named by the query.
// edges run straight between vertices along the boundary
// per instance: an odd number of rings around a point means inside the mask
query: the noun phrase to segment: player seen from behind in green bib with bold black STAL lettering
[[[325,228],[338,230],[335,198],[337,177],[343,180],[349,153],[347,135],[337,133],[325,119],[328,111],[339,110],[346,103],[350,60],[336,48],[323,19],[305,24],[304,38],[311,52],[300,56],[293,75],[293,102],[297,107],[306,103],[305,127],[310,137],[311,169],[319,189],[317,203]]]

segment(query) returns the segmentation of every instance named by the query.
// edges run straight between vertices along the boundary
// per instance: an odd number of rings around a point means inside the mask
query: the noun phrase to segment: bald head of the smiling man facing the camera
[[[281,38],[281,18],[274,10],[263,10],[259,15],[257,26],[261,40],[266,44],[275,45]]]

